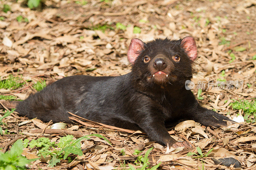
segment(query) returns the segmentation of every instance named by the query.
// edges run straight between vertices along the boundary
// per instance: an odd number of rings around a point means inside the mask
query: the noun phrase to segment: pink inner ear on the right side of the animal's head
[[[183,47],[190,60],[195,61],[197,57],[196,41],[193,37],[185,37],[181,41]]]

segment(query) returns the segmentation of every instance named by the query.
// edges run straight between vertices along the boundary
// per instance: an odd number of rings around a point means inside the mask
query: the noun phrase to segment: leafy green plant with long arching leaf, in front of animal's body
[[[43,156],[44,158],[47,156],[51,156],[51,160],[48,162],[48,166],[56,166],[57,163],[60,162],[61,159],[68,159],[68,161],[71,161],[71,158],[68,157],[70,153],[73,153],[75,155],[82,156],[83,152],[81,150],[81,144],[80,142],[83,139],[90,139],[89,136],[96,136],[103,138],[106,140],[109,144],[110,142],[107,140],[107,138],[103,137],[100,134],[92,134],[87,135],[84,137],[80,137],[76,140],[73,140],[74,136],[67,135],[66,137],[61,137],[59,142],[56,144],[55,142],[51,142],[49,138],[41,137],[36,140],[32,140],[30,143],[29,141],[23,141],[24,147],[29,146],[30,148],[38,147],[40,148],[38,151],[38,156]]]

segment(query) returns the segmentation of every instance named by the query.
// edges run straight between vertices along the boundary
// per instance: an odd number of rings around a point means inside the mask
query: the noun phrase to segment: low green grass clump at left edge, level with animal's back
[[[22,82],[21,78],[13,77],[12,75],[9,75],[7,79],[0,81],[0,89],[15,90],[25,84],[20,82]]]

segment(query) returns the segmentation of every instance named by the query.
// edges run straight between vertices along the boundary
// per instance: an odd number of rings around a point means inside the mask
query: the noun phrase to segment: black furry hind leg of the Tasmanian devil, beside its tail
[[[20,102],[16,112],[30,119],[37,117],[44,122],[70,122],[70,115],[64,106],[65,101],[63,92],[52,84]]]

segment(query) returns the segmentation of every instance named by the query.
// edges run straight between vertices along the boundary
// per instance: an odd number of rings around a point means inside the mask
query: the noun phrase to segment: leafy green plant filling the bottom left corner
[[[35,161],[37,159],[27,159],[22,156],[23,152],[22,141],[17,140],[10,149],[9,152],[3,153],[0,152],[0,169],[10,169],[10,170],[26,170],[26,164],[29,162]],[[40,158],[38,158],[40,159]]]

